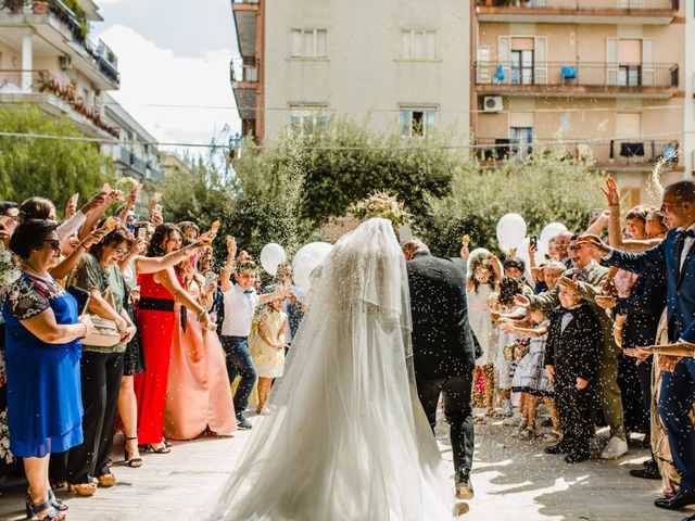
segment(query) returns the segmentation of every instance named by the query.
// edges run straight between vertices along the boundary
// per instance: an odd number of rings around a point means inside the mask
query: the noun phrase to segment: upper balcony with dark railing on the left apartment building
[[[87,37],[87,23],[78,20],[61,0],[49,2],[48,12],[26,7],[23,11],[0,10],[0,30],[8,43],[21,48],[26,29],[31,29],[37,54],[68,56],[74,66],[86,74],[101,90],[115,90],[121,86],[118,61],[102,40]]]

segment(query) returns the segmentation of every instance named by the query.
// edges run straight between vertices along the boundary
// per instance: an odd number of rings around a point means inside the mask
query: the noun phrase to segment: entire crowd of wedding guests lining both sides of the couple
[[[113,486],[112,454],[139,468],[167,440],[251,429],[305,310],[289,265],[262,288],[233,238],[215,263],[217,223],[164,223],[155,204],[140,220],[138,191],[105,186],[62,221],[46,199],[0,205],[0,480],[23,463],[41,520],[67,519],[56,488]],[[608,209],[540,265],[534,240],[528,265],[462,251],[476,421],[544,435],[567,463],[620,458],[644,434],[652,458],[631,474],[662,480],[656,506],[680,509],[695,504],[695,183],[624,220],[611,179],[604,193]]]

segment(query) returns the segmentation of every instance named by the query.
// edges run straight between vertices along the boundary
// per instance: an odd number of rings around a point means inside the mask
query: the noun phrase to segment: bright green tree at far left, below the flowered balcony
[[[0,131],[84,137],[67,117],[49,116],[28,103],[0,110]],[[22,202],[41,195],[54,201],[60,213],[73,193],[80,193],[83,201],[93,195],[112,170],[99,144],[0,136],[2,200]]]

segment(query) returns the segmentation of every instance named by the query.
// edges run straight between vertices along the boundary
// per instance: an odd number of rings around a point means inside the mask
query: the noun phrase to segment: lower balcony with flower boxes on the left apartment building
[[[45,112],[66,115],[89,136],[117,138],[119,129],[103,117],[102,107],[90,105],[72,84],[63,82],[49,71],[0,69],[0,103],[34,103]]]

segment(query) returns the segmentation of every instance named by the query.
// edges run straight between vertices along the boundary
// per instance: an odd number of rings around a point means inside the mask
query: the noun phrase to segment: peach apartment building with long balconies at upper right
[[[471,129],[481,161],[560,148],[616,176],[631,203],[646,200],[659,162],[664,183],[684,177],[686,164],[692,175],[685,1],[473,3]]]

